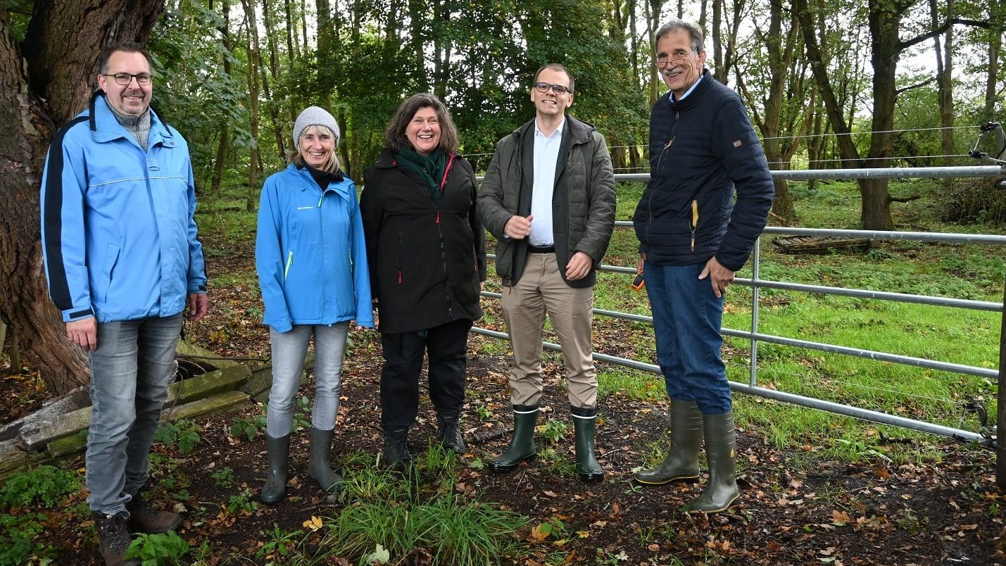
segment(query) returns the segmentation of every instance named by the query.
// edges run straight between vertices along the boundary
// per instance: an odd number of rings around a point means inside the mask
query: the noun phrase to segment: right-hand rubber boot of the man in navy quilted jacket
[[[733,411],[723,414],[703,414],[705,457],[709,461],[709,482],[705,491],[688,511],[718,513],[730,507],[739,496],[736,481],[736,430]]]

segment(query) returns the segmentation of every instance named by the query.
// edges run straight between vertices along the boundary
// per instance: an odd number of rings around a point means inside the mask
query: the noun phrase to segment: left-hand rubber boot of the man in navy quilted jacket
[[[698,478],[698,450],[701,446],[702,413],[698,405],[695,401],[671,399],[671,448],[660,465],[641,469],[633,478],[648,486]]]

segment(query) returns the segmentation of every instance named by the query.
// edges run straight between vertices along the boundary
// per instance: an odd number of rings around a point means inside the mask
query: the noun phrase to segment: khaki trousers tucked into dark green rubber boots
[[[569,404],[595,408],[598,376],[591,357],[594,288],[570,288],[558,269],[554,253],[528,253],[520,280],[503,290],[503,317],[513,348],[510,400],[514,405],[537,405],[541,399],[541,342],[547,313],[562,347]]]

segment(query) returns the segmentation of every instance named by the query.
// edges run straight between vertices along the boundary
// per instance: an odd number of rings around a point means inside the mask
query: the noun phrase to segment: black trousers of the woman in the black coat
[[[466,354],[472,321],[454,321],[423,332],[382,334],[384,368],[380,374],[380,424],[385,429],[412,425],[420,408],[420,372],[430,360],[430,400],[437,414],[452,418],[465,403]]]

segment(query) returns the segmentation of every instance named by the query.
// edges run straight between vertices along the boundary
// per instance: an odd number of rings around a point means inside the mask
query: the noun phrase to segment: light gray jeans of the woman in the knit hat
[[[315,343],[315,399],[311,425],[319,430],[335,428],[342,390],[342,354],[346,348],[349,321],[332,326],[294,325],[288,332],[270,329],[273,343],[273,388],[269,392],[266,432],[273,438],[290,434],[294,426],[294,399],[301,385],[308,341]]]

